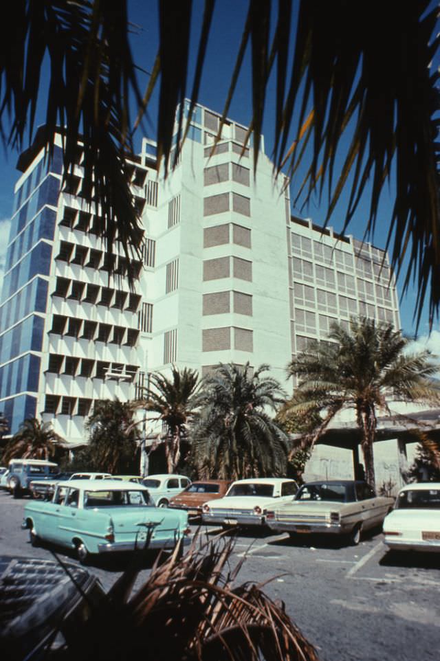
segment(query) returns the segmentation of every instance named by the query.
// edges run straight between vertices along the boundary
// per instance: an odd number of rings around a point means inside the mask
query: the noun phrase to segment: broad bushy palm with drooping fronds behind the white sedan
[[[192,462],[199,476],[237,480],[284,475],[287,436],[270,418],[285,393],[269,366],[252,374],[249,363],[220,364],[203,382],[200,419],[192,432]]]

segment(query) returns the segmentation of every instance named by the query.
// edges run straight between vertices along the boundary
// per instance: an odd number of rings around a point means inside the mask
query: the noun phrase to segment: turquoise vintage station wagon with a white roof
[[[91,555],[144,548],[173,550],[189,544],[188,515],[159,511],[142,484],[118,480],[69,480],[57,484],[52,501],[30,500],[22,528],[40,540],[76,550],[80,562]]]

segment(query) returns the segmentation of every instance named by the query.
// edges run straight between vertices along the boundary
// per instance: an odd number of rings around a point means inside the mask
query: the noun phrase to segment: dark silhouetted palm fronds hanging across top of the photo
[[[127,0],[117,5],[98,0],[12,3],[1,28],[1,43],[9,47],[0,58],[0,130],[4,142],[21,148],[28,133],[33,137],[37,104],[45,105],[49,155],[58,125],[65,126],[64,165],[69,172],[80,139],[85,151],[83,195],[100,203],[100,236],[111,251],[118,234],[128,253],[142,241],[124,162],[133,137],[129,99],[134,98],[139,111],[137,126],[159,85],[158,166],[163,156],[166,168],[177,104],[179,146],[189,128],[184,98],[190,96],[194,104],[199,96],[215,3],[205,1],[189,95],[188,60],[192,40],[197,41],[192,3],[159,3],[157,57],[152,66],[136,63],[151,71],[143,97],[129,45],[127,5]],[[250,47],[255,163],[265,106],[271,103],[276,109],[276,168],[287,164],[287,174],[293,175],[304,162],[306,175],[299,187],[304,203],[315,192],[320,196],[328,183],[327,218],[349,180],[346,225],[366,192],[371,197],[367,229],[373,232],[382,188],[392,177],[396,193],[388,237],[393,266],[399,269],[408,262],[405,286],[417,276],[418,313],[427,298],[432,320],[440,304],[439,91],[437,69],[431,66],[439,55],[437,7],[429,0],[298,0],[292,20],[292,0],[283,0],[278,2],[274,30],[271,16],[270,0],[250,1],[223,118],[241,69],[247,74],[243,62]],[[48,85],[39,86],[47,60]],[[268,92],[271,75],[276,78],[274,99]],[[43,90],[46,100],[41,99]],[[12,115],[10,132],[4,126],[5,113]],[[188,117],[191,114],[190,109]],[[351,139],[341,140],[347,127]]]

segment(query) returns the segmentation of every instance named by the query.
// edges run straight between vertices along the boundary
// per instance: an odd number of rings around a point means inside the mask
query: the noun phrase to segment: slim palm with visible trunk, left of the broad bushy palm
[[[153,372],[144,398],[137,407],[156,414],[149,420],[162,421],[168,473],[174,473],[181,459],[181,442],[188,437],[188,425],[197,415],[199,406],[199,374],[196,370],[173,366],[171,378]]]

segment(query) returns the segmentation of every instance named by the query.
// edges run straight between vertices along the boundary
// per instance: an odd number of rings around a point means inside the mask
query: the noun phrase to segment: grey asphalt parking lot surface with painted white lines
[[[25,502],[0,492],[0,553],[52,558],[48,548],[32,548],[20,528]],[[219,532],[200,528],[203,539]],[[382,535],[355,547],[269,533],[239,533],[234,542],[232,563],[245,558],[238,581],[265,583],[265,592],[285,603],[322,661],[440,658],[437,554],[391,554]],[[123,562],[98,561],[89,571],[108,589],[123,568]],[[147,566],[135,589],[149,571]]]

